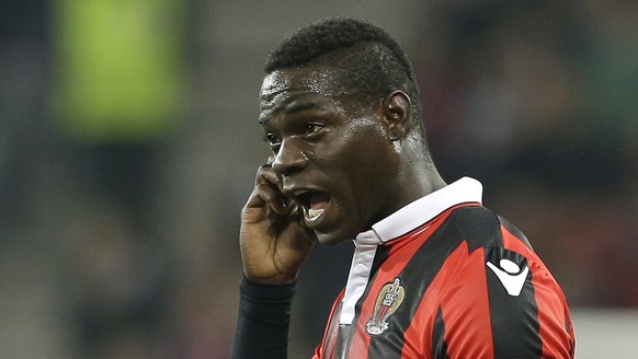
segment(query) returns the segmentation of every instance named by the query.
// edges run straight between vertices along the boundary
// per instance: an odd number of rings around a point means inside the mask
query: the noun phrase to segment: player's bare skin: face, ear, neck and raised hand
[[[410,123],[410,99],[375,105],[338,91],[330,68],[276,70],[261,88],[260,123],[273,151],[241,215],[246,277],[293,282],[314,243],[352,240],[445,185]]]

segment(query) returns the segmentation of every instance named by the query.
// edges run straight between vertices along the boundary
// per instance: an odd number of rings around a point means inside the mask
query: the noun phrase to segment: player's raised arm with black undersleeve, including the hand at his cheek
[[[232,358],[286,358],[295,280],[310,253],[315,234],[281,180],[262,165],[241,212],[240,248],[244,278]]]

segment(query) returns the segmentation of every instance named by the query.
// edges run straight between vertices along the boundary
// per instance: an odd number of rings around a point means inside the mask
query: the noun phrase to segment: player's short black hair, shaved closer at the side
[[[369,104],[378,103],[395,90],[406,92],[412,101],[412,120],[424,130],[419,88],[410,60],[383,28],[351,18],[310,24],[272,51],[264,71],[310,63],[332,67],[339,85]]]

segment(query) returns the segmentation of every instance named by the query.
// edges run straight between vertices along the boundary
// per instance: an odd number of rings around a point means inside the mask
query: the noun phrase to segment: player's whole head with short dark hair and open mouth
[[[383,30],[351,19],[305,27],[270,56],[260,123],[283,190],[323,244],[424,195],[433,170],[414,73]]]

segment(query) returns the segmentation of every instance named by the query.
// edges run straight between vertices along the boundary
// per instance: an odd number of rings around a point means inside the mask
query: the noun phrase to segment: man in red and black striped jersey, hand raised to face
[[[298,270],[315,241],[354,240],[316,358],[572,358],[561,289],[525,236],[449,185],[430,157],[414,74],[383,30],[303,28],[270,57],[272,157],[241,215],[233,358],[285,358]]]

